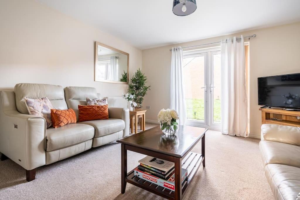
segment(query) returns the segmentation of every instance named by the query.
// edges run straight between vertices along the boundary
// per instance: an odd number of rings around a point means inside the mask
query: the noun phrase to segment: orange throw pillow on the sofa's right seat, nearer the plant
[[[108,119],[108,105],[103,106],[80,106],[79,121],[91,121],[97,119]]]

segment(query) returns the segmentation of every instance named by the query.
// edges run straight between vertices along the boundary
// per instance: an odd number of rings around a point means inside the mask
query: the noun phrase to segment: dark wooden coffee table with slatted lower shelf
[[[200,164],[205,167],[205,132],[207,129],[192,126],[179,126],[174,138],[162,137],[159,126],[148,129],[133,136],[117,140],[121,143],[122,185],[121,193],[125,193],[126,183],[133,184],[149,192],[167,199],[182,199]],[[201,154],[190,152],[200,141]],[[175,192],[150,183],[134,175],[134,169],[127,173],[127,150],[160,158],[175,163]],[[181,184],[181,168],[188,171],[187,180]]]

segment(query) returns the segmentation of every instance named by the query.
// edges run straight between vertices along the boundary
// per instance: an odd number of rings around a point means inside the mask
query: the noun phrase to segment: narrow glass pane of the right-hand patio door
[[[214,123],[221,123],[221,54],[214,54]]]

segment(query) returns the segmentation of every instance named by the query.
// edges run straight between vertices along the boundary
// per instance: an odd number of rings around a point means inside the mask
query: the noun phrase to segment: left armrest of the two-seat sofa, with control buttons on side
[[[9,96],[10,92],[0,92],[0,152],[27,170],[45,165],[45,119],[6,106],[7,100],[13,101]]]

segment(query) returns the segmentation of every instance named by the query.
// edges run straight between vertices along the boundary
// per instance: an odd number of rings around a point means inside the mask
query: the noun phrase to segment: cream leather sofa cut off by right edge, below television
[[[300,127],[262,124],[259,150],[275,199],[300,193]]]

